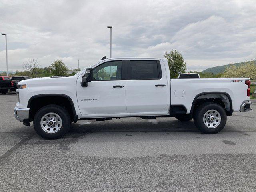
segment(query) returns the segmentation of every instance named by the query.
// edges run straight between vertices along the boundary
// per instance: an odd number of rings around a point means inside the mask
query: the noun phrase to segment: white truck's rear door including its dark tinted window
[[[126,61],[128,113],[168,112],[168,83],[160,60]]]

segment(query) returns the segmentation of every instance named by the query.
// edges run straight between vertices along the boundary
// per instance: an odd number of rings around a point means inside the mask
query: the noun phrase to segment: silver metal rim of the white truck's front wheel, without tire
[[[40,124],[45,132],[56,133],[62,126],[62,119],[56,113],[47,113],[41,118]]]

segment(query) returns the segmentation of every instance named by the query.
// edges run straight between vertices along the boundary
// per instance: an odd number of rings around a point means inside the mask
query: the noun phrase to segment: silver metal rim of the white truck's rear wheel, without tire
[[[203,117],[204,125],[208,128],[216,128],[221,121],[220,113],[215,110],[211,109],[208,110]]]

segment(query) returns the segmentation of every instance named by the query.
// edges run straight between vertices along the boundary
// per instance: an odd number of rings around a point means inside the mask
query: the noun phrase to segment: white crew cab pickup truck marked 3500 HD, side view
[[[194,119],[214,134],[233,111],[249,111],[249,78],[171,79],[165,58],[111,58],[70,77],[45,77],[18,83],[14,116],[34,121],[46,139],[60,138],[78,120],[120,117]]]

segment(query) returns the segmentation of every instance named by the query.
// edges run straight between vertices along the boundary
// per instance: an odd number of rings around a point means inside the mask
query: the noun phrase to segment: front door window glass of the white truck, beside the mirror
[[[93,69],[94,81],[121,80],[122,61],[110,61]]]

